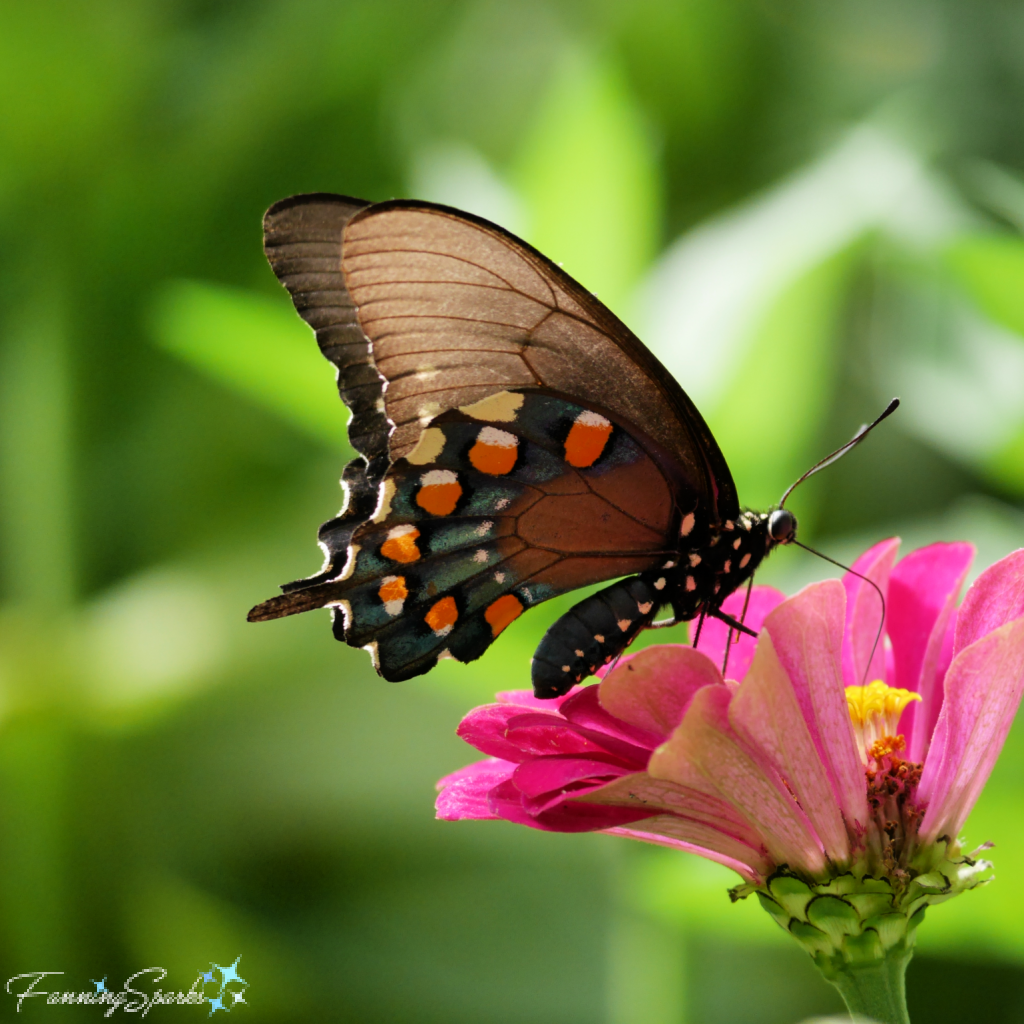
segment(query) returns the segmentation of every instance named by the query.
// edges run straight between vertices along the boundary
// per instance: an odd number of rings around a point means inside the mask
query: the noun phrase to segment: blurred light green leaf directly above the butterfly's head
[[[830,403],[836,321],[850,264],[850,252],[841,253],[778,296],[708,418],[743,503],[754,508],[777,502],[812,457],[811,440]]]

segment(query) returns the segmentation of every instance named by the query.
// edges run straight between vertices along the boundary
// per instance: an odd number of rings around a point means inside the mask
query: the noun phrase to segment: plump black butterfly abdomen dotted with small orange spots
[[[631,577],[570,608],[544,635],[534,655],[537,696],[561,696],[621,654],[650,625],[658,601],[657,591]]]

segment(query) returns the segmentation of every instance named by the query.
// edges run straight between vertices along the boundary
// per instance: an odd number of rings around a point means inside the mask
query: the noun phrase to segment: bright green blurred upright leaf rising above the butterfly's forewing
[[[566,56],[515,180],[528,241],[622,314],[654,253],[660,185],[642,114],[617,68]]]

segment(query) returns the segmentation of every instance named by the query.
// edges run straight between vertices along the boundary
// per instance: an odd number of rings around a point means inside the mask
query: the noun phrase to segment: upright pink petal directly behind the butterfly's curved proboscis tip
[[[899,538],[868,548],[854,563],[853,567],[861,575],[867,577],[882,591],[888,601],[889,571],[892,568]],[[886,656],[882,638],[885,623],[882,615],[882,601],[870,584],[864,583],[852,572],[843,577],[846,588],[846,629],[843,633],[843,679],[847,686],[862,686],[873,679],[885,679]],[[883,629],[880,631],[880,627]],[[878,645],[874,641],[878,639]],[[871,648],[874,654],[871,655]],[[870,665],[868,665],[870,658]],[[867,671],[865,672],[865,667]]]

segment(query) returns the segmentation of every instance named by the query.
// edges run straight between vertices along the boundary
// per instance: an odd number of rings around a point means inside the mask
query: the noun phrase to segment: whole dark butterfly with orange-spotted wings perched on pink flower
[[[322,570],[257,605],[331,607],[385,679],[479,657],[520,614],[614,580],[548,630],[554,697],[644,629],[722,602],[794,541],[742,510],[696,407],[597,298],[525,242],[431,203],[295,196],[264,250],[338,371],[359,457]],[[655,623],[663,607],[671,616]]]

